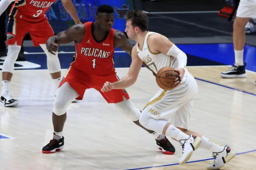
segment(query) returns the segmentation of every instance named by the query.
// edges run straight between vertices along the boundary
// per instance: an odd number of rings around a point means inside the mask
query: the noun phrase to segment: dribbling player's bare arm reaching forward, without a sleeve
[[[141,69],[142,60],[139,58],[135,46],[132,48],[131,56],[132,62],[128,74],[124,76],[121,80],[114,83],[106,81],[101,89],[102,92],[107,92],[112,89],[125,89],[126,87],[130,87],[136,82]]]

